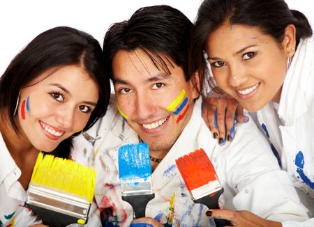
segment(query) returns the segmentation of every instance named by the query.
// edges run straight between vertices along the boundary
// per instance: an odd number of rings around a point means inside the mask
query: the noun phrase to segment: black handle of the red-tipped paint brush
[[[208,196],[204,196],[194,201],[194,203],[201,203],[206,205],[209,209],[220,209],[218,204],[218,198],[223,194],[223,187]],[[226,219],[214,219],[216,226],[233,226],[232,222]]]

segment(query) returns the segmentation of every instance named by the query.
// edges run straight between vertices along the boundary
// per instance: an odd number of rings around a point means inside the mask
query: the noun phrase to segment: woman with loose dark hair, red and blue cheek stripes
[[[56,27],[15,56],[0,78],[0,226],[36,223],[23,205],[38,152],[68,158],[109,99],[102,50],[87,33]]]

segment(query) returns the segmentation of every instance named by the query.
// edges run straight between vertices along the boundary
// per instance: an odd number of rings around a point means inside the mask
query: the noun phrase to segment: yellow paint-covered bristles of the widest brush
[[[39,153],[31,184],[80,196],[91,203],[95,191],[96,171],[69,159]]]

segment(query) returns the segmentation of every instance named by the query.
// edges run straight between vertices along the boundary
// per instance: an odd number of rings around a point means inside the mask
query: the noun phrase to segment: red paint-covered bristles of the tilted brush
[[[202,148],[179,157],[176,163],[189,191],[218,180],[214,166]]]

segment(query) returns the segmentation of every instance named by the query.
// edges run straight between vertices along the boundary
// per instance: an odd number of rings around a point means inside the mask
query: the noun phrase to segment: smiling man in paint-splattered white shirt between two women
[[[197,99],[199,80],[188,75],[192,29],[179,10],[151,6],[113,24],[105,35],[105,72],[113,81],[116,99],[105,118],[80,137],[73,152],[76,160],[96,168],[101,224],[129,226],[133,221],[131,206],[121,199],[118,148],[140,141],[149,145],[155,198],[147,204],[147,217],[135,221],[209,225],[207,207],[193,202],[175,163],[200,148],[225,189],[220,197],[224,208],[248,210],[244,217],[249,224],[276,226],[274,221],[306,219],[289,176],[279,169],[253,120],[239,125],[237,137],[225,146],[211,137],[202,120],[202,100]],[[92,217],[89,225],[95,226]]]

